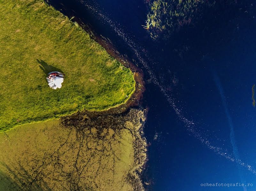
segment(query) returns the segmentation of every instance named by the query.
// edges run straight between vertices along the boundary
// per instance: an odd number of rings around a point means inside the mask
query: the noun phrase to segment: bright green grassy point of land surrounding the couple
[[[135,90],[132,72],[41,0],[0,0],[0,131],[78,110],[106,110]],[[66,74],[61,89],[46,73]]]

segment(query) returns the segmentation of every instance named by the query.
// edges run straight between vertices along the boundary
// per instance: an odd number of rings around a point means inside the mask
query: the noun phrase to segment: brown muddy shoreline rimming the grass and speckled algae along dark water
[[[47,3],[47,4],[54,7],[50,3]],[[56,9],[56,7],[54,7],[54,9]],[[58,9],[56,9],[56,10],[58,10]],[[58,11],[60,11],[60,10],[58,10]],[[60,12],[63,15],[68,17],[67,14],[64,14],[62,11],[60,11]],[[97,34],[96,32],[94,32],[94,30],[91,27],[89,27],[89,25],[86,25],[85,23],[83,23],[79,18],[74,17],[72,20],[74,20],[74,22],[77,22],[79,24],[79,26],[83,30],[85,30],[93,40],[95,40],[98,44],[100,44],[106,50],[107,53],[109,53],[112,57],[114,57],[116,60],[118,60],[123,66],[129,68],[134,74],[134,80],[135,80],[136,84],[135,84],[135,91],[133,92],[133,94],[130,96],[130,98],[127,100],[126,103],[120,104],[116,107],[112,107],[112,108],[109,108],[109,109],[103,110],[103,111],[87,111],[87,110],[83,110],[81,112],[78,111],[77,113],[74,113],[71,116],[61,117],[61,120],[65,120],[67,118],[75,119],[78,116],[80,116],[81,114],[83,115],[86,113],[89,113],[92,115],[106,115],[106,114],[124,115],[124,114],[128,113],[129,110],[131,110],[133,108],[139,108],[140,110],[144,110],[145,111],[144,112],[145,119],[144,119],[143,124],[140,126],[140,128],[137,129],[137,133],[138,133],[137,141],[140,141],[140,138],[145,141],[144,147],[140,148],[141,150],[143,150],[143,149],[145,150],[145,152],[144,152],[145,159],[143,161],[140,161],[141,162],[140,165],[138,166],[138,168],[136,168],[136,171],[139,172],[139,173],[136,173],[136,175],[139,178],[139,181],[135,181],[133,185],[134,185],[134,189],[146,190],[144,185],[147,183],[142,182],[143,171],[145,170],[147,161],[148,161],[148,145],[147,145],[146,138],[144,137],[144,132],[143,132],[144,123],[147,120],[147,111],[148,111],[147,106],[143,106],[143,94],[146,91],[145,81],[144,81],[144,73],[143,73],[142,69],[137,67],[127,56],[120,54],[116,50],[115,46],[112,44],[110,39],[107,39],[104,36],[102,36],[101,34]],[[135,146],[134,146],[134,148],[135,148]],[[143,189],[138,188],[136,186],[136,185],[140,185],[139,182],[142,183]]]

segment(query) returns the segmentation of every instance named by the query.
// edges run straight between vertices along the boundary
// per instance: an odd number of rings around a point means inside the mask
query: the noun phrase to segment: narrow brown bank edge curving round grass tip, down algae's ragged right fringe
[[[49,4],[52,6],[47,0],[45,1],[46,4]],[[54,6],[52,6],[54,9],[56,9]],[[59,11],[58,9],[56,9]],[[60,12],[60,11],[59,11]],[[61,14],[67,16],[69,18],[69,15],[66,15],[61,12]],[[73,17],[70,17],[70,19]],[[110,39],[105,38],[101,34],[97,34],[94,32],[92,27],[89,25],[86,25],[83,23],[79,18],[74,17],[72,19],[74,22],[76,22],[84,31],[86,31],[92,39],[94,39],[98,44],[100,44],[107,53],[109,53],[112,57],[114,57],[116,60],[118,60],[123,66],[129,68],[133,74],[134,74],[134,80],[135,80],[135,90],[130,96],[130,98],[127,100],[126,103],[122,103],[120,105],[117,105],[115,107],[109,108],[107,110],[103,111],[88,111],[88,110],[83,110],[83,111],[78,111],[74,113],[71,116],[66,116],[66,117],[61,117],[61,120],[65,120],[67,117],[68,118],[76,118],[83,113],[91,113],[92,115],[95,114],[116,114],[116,115],[122,115],[124,113],[127,113],[131,108],[137,108],[140,109],[141,111],[144,112],[144,120],[142,121],[141,126],[137,129],[136,132],[134,132],[135,135],[135,141],[133,143],[133,148],[135,149],[135,161],[134,161],[134,167],[136,168],[133,169],[133,173],[129,173],[128,176],[130,178],[130,184],[134,187],[134,190],[146,190],[145,189],[145,183],[142,182],[142,173],[145,170],[147,161],[148,161],[148,145],[146,142],[146,138],[144,136],[144,124],[147,120],[147,111],[148,108],[143,104],[143,94],[146,91],[145,88],[145,82],[144,82],[144,73],[141,68],[136,66],[129,58],[127,55],[122,55],[120,54],[116,47],[113,45]],[[140,142],[141,147],[137,148],[136,143]],[[140,155],[144,154],[144,157],[140,157]]]

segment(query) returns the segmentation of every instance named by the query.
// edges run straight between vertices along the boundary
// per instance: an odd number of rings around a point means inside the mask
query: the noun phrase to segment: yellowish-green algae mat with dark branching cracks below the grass
[[[83,112],[0,134],[1,190],[144,190],[145,111]]]

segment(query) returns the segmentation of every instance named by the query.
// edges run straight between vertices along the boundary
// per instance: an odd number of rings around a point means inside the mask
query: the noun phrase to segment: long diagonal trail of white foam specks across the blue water
[[[207,136],[207,133],[196,128],[196,124],[192,120],[184,117],[184,110],[182,106],[178,106],[178,104],[180,104],[179,101],[175,100],[175,98],[167,91],[167,88],[158,81],[156,75],[153,72],[153,69],[148,65],[146,61],[146,59],[149,60],[149,57],[147,56],[146,53],[144,53],[143,46],[139,43],[135,43],[135,40],[133,40],[133,36],[131,35],[131,33],[124,32],[122,30],[122,26],[119,23],[112,21],[108,16],[106,16],[106,13],[102,13],[102,11],[98,9],[99,6],[90,5],[88,4],[88,2],[84,2],[83,0],[80,0],[80,2],[93,14],[96,14],[98,18],[101,18],[104,23],[107,23],[118,34],[118,36],[120,36],[124,40],[124,42],[134,51],[137,59],[140,61],[141,64],[143,64],[144,68],[147,70],[147,73],[150,75],[152,82],[160,88],[161,92],[167,98],[169,104],[174,109],[178,118],[184,123],[184,126],[186,127],[189,135],[193,136],[194,138],[197,138],[203,145],[205,145],[208,149],[210,149],[217,155],[224,157],[231,162],[236,162],[241,167],[244,167],[251,173],[256,174],[256,170],[251,165],[246,164],[236,156],[234,158],[233,156],[228,154],[227,149],[222,148],[220,146],[216,146],[216,142],[217,145],[224,145],[225,140],[221,140],[221,138],[218,138],[216,136],[214,140],[212,138],[209,138],[209,136]],[[94,4],[97,3],[94,2]],[[156,63],[151,64],[155,65]]]

